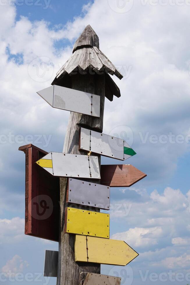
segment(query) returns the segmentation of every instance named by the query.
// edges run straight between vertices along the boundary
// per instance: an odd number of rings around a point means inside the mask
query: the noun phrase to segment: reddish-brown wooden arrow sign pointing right
[[[129,187],[146,176],[130,164],[101,165],[101,184],[110,187]]]

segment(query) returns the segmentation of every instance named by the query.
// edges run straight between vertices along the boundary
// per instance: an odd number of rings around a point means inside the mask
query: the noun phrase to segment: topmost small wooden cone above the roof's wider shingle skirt
[[[82,47],[97,47],[99,49],[99,38],[93,28],[88,25],[76,40],[73,46],[73,53]]]

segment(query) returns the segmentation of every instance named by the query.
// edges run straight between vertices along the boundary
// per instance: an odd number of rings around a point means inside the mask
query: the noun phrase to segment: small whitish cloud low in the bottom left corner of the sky
[[[29,266],[27,261],[23,261],[19,255],[15,255],[12,259],[8,260],[6,265],[1,268],[3,273],[22,273],[26,267]]]

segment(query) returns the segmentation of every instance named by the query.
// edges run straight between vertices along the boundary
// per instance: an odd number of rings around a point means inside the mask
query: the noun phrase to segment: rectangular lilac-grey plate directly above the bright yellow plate
[[[66,202],[109,210],[110,187],[69,178]]]

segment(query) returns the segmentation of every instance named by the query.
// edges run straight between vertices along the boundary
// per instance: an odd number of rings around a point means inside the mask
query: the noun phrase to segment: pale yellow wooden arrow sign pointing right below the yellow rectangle
[[[138,256],[125,241],[80,235],[75,236],[74,254],[75,261],[122,266]]]

